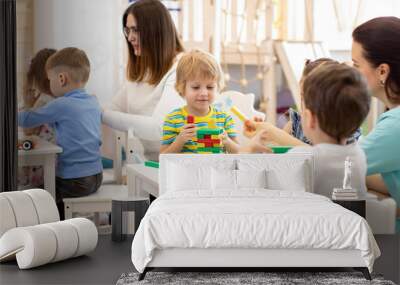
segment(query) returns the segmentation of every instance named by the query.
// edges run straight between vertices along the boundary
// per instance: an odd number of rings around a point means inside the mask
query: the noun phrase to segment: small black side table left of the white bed
[[[113,241],[123,241],[126,239],[126,234],[123,233],[123,213],[124,212],[135,212],[135,231],[137,231],[140,221],[146,214],[149,208],[149,198],[140,197],[126,197],[116,198],[112,200],[112,212],[111,212],[111,225]]]

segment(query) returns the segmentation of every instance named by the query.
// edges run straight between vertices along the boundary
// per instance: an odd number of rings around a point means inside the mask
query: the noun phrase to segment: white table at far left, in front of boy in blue
[[[62,152],[58,145],[35,137],[34,148],[18,150],[18,167],[43,166],[44,189],[56,198],[56,156]]]

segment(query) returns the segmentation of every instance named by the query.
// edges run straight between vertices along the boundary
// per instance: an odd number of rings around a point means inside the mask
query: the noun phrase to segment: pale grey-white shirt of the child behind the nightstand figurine
[[[366,193],[367,159],[357,143],[349,145],[317,144],[299,146],[290,152],[312,152],[314,156],[314,193],[332,197],[333,188],[341,188],[344,177],[344,161],[352,161],[351,186]]]

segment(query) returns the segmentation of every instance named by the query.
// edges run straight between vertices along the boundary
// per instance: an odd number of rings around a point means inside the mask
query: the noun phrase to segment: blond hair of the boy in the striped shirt
[[[179,60],[175,84],[179,95],[183,96],[186,82],[194,78],[212,79],[217,82],[218,91],[224,88],[221,67],[211,54],[201,50],[192,50]]]

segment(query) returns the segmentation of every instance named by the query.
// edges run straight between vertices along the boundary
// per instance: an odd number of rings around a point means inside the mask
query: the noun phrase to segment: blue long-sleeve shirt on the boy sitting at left
[[[101,108],[84,89],[64,94],[47,105],[18,114],[18,125],[31,128],[49,124],[63,151],[58,155],[56,175],[79,178],[103,170],[100,155]]]

